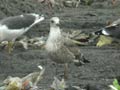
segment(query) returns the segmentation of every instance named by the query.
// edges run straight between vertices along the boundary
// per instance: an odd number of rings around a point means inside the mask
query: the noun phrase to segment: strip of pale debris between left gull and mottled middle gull
[[[29,47],[32,48],[42,48],[42,46],[45,45],[46,37],[34,37],[34,38],[28,38],[26,36],[23,36],[21,39],[16,40],[14,42],[15,48],[21,47],[25,50],[29,49]],[[6,47],[8,44],[7,41],[3,41],[0,43],[0,47]]]

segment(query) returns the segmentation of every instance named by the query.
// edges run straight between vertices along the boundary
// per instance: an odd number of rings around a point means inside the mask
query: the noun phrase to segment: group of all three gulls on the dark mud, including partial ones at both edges
[[[11,48],[15,40],[26,33],[31,27],[40,23],[45,19],[44,15],[36,13],[12,16],[0,21],[0,42],[8,41],[8,52],[11,53]],[[64,78],[67,78],[68,63],[84,64],[89,62],[80,50],[67,46],[65,43],[68,40],[64,37],[62,30],[59,27],[59,17],[50,19],[50,32],[46,41],[45,50],[51,60],[56,63],[64,64]],[[120,38],[120,19],[114,21],[110,25],[101,30],[93,32],[95,35],[105,35],[119,39]],[[76,51],[77,53],[74,53]]]

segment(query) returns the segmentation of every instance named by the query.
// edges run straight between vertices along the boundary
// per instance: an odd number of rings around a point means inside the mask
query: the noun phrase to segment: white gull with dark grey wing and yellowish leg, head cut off
[[[27,32],[32,26],[43,21],[43,15],[30,13],[8,17],[0,21],[0,42],[8,41],[8,52],[11,52],[12,42]],[[11,42],[12,41],[12,42]]]

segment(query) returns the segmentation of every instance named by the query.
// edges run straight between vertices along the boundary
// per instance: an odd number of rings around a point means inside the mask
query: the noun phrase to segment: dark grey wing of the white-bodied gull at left
[[[8,17],[0,21],[1,25],[6,25],[9,29],[27,28],[35,21],[35,16],[31,14]]]

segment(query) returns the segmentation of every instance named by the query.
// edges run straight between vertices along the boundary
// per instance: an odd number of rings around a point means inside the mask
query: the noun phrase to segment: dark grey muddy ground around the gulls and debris
[[[120,1],[112,6],[112,0],[96,0],[91,6],[80,5],[78,8],[62,8],[60,11],[49,9],[46,4],[40,4],[37,0],[0,0],[0,19],[7,16],[22,13],[43,13],[47,19],[31,28],[25,35],[29,37],[46,36],[49,31],[48,19],[59,16],[62,20],[62,28],[66,31],[77,29],[91,32],[105,26],[107,21],[120,18]],[[107,90],[116,76],[120,75],[120,47],[105,46],[102,48],[92,46],[79,47],[90,63],[81,67],[70,64],[69,80],[71,85],[81,87],[87,84],[98,85],[101,90]],[[0,80],[8,75],[23,77],[31,72],[38,71],[37,65],[46,68],[44,78],[39,83],[41,88],[49,88],[55,74],[55,65],[47,57],[44,50],[16,48],[9,55],[5,50],[0,52]],[[63,67],[57,67],[58,77],[63,76]]]

